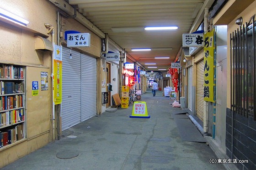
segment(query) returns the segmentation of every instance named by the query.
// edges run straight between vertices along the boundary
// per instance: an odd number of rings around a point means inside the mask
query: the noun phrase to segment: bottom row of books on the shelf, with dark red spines
[[[0,148],[7,144],[13,144],[22,138],[24,138],[23,124],[19,124],[13,129],[0,132]]]

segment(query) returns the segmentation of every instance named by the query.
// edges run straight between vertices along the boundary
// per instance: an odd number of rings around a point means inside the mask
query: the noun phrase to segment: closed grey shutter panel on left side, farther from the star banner
[[[81,54],[81,121],[96,115],[96,58]]]

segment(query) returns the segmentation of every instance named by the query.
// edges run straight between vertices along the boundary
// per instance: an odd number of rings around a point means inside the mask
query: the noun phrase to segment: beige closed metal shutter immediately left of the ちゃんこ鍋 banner
[[[203,60],[197,63],[197,103],[196,103],[196,112],[197,117],[203,121]]]

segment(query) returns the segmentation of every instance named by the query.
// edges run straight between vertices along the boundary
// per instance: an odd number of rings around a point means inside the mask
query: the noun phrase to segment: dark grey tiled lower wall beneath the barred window
[[[232,113],[229,108],[226,113],[226,148],[227,155],[232,158]],[[234,113],[233,128],[233,159],[249,161],[235,165],[240,170],[256,170],[256,121]]]

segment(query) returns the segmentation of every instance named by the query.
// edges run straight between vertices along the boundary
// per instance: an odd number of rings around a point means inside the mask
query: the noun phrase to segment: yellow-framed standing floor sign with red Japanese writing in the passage
[[[134,102],[133,112],[130,118],[150,118],[146,102]]]

